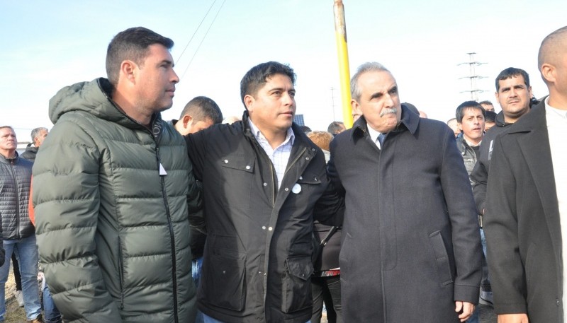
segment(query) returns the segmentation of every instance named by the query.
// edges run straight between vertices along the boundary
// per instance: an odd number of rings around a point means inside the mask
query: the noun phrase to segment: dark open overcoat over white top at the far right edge
[[[495,140],[484,230],[497,313],[563,322],[561,221],[544,102]]]

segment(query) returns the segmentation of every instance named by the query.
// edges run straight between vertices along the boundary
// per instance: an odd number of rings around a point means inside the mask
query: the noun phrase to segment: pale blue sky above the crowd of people
[[[20,141],[29,140],[34,127],[51,128],[49,99],[64,86],[106,76],[108,42],[121,30],[142,25],[172,38],[172,55],[181,57],[176,71],[184,76],[164,119],[179,117],[196,95],[213,98],[225,116],[240,116],[240,79],[250,67],[276,60],[296,70],[298,113],[311,128],[326,129],[333,119],[342,119],[332,4],[2,1],[0,124],[16,127]],[[537,50],[546,35],[567,24],[566,0],[344,0],[344,6],[351,73],[365,61],[381,62],[397,79],[402,101],[443,121],[470,98],[459,93],[469,89],[468,81],[459,80],[468,75],[468,67],[457,65],[468,60],[467,52],[488,63],[477,67],[477,74],[487,76],[478,81],[478,88],[488,90],[480,100],[495,102],[494,78],[509,66],[525,69],[534,94],[546,95]]]

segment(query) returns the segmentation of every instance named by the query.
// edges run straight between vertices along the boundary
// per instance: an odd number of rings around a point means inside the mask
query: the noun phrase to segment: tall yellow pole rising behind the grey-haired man
[[[352,128],[352,107],[350,105],[350,71],[349,50],[347,48],[347,25],[344,22],[344,6],[342,0],[335,0],[335,38],[339,54],[339,78],[341,84],[342,119],[344,126]]]

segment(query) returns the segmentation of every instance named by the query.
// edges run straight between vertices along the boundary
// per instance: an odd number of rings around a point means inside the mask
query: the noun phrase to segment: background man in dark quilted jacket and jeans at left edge
[[[20,158],[12,127],[0,127],[0,216],[4,265],[0,266],[0,322],[6,318],[5,284],[12,252],[20,264],[24,310],[28,322],[43,322],[38,288],[38,246],[28,213],[33,163]]]

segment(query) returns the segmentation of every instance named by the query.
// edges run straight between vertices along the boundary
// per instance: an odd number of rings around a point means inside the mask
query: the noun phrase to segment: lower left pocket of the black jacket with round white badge
[[[246,254],[229,249],[213,249],[203,275],[203,291],[211,304],[228,310],[242,311],[245,307]]]

